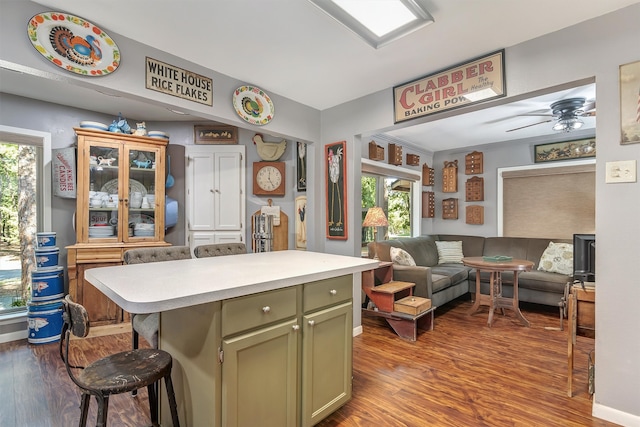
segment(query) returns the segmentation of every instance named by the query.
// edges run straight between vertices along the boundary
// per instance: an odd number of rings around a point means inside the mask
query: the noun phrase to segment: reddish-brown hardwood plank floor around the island
[[[509,310],[486,326],[486,312],[467,316],[468,300],[436,310],[435,328],[415,343],[383,319],[363,319],[354,338],[353,399],[320,427],[613,426],[591,416],[587,356],[578,337],[574,396],[567,397],[567,341],[556,309],[523,306],[531,328]],[[565,321],[566,322],[566,321]],[[130,335],[88,338],[80,360],[128,349]],[[58,344],[0,344],[0,425],[77,425],[80,395],[58,356]],[[95,422],[95,401],[90,423]],[[146,391],[113,396],[109,425],[150,424]],[[198,427],[198,426],[194,426]]]

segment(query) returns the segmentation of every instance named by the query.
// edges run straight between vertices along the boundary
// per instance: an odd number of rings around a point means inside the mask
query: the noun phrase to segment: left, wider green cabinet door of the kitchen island
[[[222,425],[298,425],[298,322],[222,341]]]

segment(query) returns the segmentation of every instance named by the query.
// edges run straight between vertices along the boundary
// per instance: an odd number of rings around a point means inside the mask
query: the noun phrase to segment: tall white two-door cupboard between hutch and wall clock
[[[244,145],[186,147],[189,246],[245,241]]]

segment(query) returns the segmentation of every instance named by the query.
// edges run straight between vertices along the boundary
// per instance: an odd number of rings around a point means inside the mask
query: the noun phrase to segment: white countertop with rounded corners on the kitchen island
[[[377,266],[368,258],[290,250],[92,268],[85,279],[129,313],[153,313]]]

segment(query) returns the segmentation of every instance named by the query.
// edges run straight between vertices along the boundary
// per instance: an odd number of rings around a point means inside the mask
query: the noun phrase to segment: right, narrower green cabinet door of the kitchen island
[[[312,426],[351,398],[353,304],[303,317],[302,425]]]

